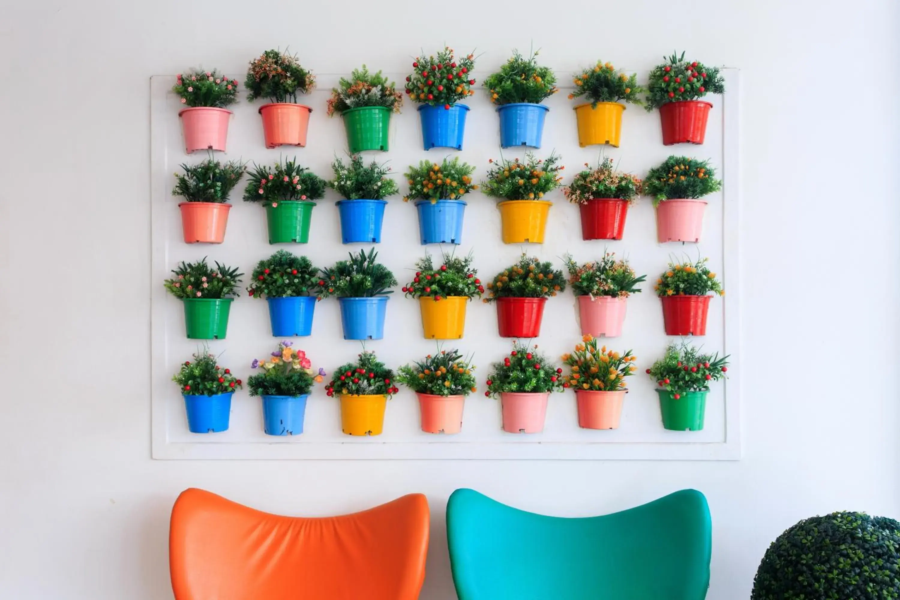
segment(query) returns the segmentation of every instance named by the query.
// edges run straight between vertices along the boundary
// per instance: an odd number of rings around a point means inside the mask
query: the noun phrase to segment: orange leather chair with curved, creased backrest
[[[176,600],[415,600],[428,501],[410,494],[353,515],[269,515],[202,489],[172,508]]]

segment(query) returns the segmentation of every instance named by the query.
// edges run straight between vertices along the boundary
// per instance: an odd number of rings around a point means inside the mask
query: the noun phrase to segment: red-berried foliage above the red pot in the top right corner
[[[697,100],[707,94],[724,94],[725,81],[718,67],[706,67],[703,63],[688,61],[672,54],[666,62],[650,72],[647,85],[648,111],[665,103]]]

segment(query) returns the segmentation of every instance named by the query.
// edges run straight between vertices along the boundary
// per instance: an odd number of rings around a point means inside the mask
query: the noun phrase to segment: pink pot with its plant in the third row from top
[[[628,259],[617,259],[607,252],[599,261],[578,264],[572,255],[564,256],[569,284],[578,299],[582,336],[621,336],[628,296],[641,291],[638,277]]]

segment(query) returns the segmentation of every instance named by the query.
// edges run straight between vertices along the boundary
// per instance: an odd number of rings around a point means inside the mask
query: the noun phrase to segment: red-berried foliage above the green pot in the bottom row
[[[671,344],[666,348],[666,354],[647,369],[647,374],[660,390],[669,390],[672,398],[677,400],[686,391],[707,391],[710,381],[725,377],[727,358],[701,354],[699,348],[686,343]]]

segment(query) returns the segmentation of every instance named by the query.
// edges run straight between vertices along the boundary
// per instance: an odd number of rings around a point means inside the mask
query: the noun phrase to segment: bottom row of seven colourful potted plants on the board
[[[617,429],[624,405],[626,377],[637,369],[630,350],[618,353],[584,336],[572,353],[563,354],[563,368],[552,363],[537,345],[516,343],[509,356],[494,363],[484,395],[499,398],[503,431],[536,434],[544,430],[550,393],[575,392],[579,426]],[[727,372],[727,356],[704,354],[690,345],[670,345],[646,372],[657,385],[662,425],[676,431],[703,429],[709,385]],[[324,381],[302,350],[283,341],[270,356],[251,364],[250,396],[262,399],[264,430],[269,435],[303,433],[306,403],[313,385]],[[257,371],[258,370],[258,371]],[[458,434],[463,428],[464,401],[476,391],[475,365],[458,350],[441,350],[393,372],[373,352],[343,364],[326,385],[329,397],[340,400],[341,430],[349,435],[383,432],[387,400],[402,385],[419,399],[421,429],[430,434]],[[193,355],[173,380],[184,396],[188,427],[205,434],[228,429],[231,398],[243,382],[220,367],[208,351]]]

